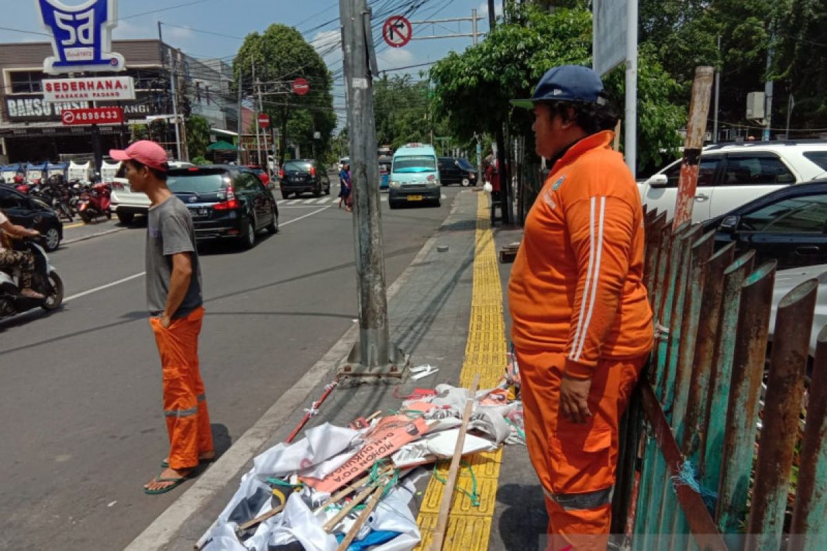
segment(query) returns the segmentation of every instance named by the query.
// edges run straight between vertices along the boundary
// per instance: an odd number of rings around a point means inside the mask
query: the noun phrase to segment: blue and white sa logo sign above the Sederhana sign
[[[43,60],[47,74],[122,71],[123,56],[112,51],[117,0],[88,0],[66,6],[59,0],[35,0],[41,23],[50,32],[55,55]]]

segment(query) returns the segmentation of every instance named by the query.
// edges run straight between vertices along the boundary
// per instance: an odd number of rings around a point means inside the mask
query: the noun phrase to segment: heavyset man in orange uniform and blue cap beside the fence
[[[546,495],[548,549],[605,549],[618,424],[653,344],[643,209],[618,117],[591,69],[564,65],[530,100],[551,172],[509,281],[528,454]]]

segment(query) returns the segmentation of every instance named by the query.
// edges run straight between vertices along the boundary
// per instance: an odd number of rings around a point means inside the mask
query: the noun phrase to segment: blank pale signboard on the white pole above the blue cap
[[[626,4],[627,0],[594,0],[592,67],[601,77],[626,60]]]

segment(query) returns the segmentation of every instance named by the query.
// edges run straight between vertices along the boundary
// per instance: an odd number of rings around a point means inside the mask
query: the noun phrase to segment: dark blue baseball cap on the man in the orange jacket
[[[605,104],[600,77],[582,65],[561,65],[548,69],[531,99],[513,99],[511,105],[532,109],[536,102],[584,102]]]

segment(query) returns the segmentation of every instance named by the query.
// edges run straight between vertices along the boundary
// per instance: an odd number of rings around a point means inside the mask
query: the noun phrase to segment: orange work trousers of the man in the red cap
[[[193,468],[198,455],[213,451],[207,398],[198,373],[198,334],[204,310],[173,320],[169,327],[151,317],[164,373],[164,416],[170,435],[170,467]]]

